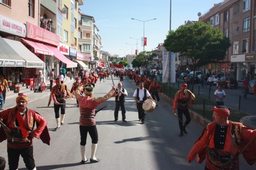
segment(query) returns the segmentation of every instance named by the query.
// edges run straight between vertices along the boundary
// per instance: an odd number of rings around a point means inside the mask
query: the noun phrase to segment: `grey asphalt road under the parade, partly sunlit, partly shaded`
[[[114,77],[115,85],[118,79]],[[106,80],[95,86],[94,96],[103,96],[111,89],[112,81]],[[68,84],[71,87],[71,84]],[[114,122],[114,98],[109,99],[101,106],[107,107],[97,114],[97,128],[99,135],[96,157],[99,163],[80,164],[79,150],[79,109],[76,106],[66,107],[65,125],[57,131],[54,118],[53,103],[46,107],[49,91],[43,93],[27,94],[33,98],[28,104],[29,109],[38,111],[47,119],[51,144],[47,146],[41,140],[34,139],[34,158],[37,169],[204,169],[204,163],[187,163],[186,156],[195,140],[201,135],[203,127],[191,122],[187,127],[187,135],[178,137],[178,119],[171,114],[171,106],[161,98],[158,106],[152,113],[147,113],[146,123],[141,125],[133,99],[136,86],[127,78],[123,83],[128,96],[126,97],[126,120],[122,122],[121,111],[119,120]],[[229,94],[229,93],[228,93]],[[12,106],[8,101],[5,105]],[[67,103],[75,100],[67,99]],[[99,106],[99,107],[101,107]],[[98,108],[99,108],[98,107]],[[90,158],[91,139],[88,135],[86,144],[86,157]],[[0,143],[0,155],[7,160],[6,142]],[[255,169],[241,158],[241,169]],[[8,167],[8,165],[6,166]],[[8,169],[8,168],[6,168]],[[26,169],[22,158],[19,169]]]

